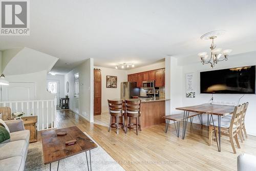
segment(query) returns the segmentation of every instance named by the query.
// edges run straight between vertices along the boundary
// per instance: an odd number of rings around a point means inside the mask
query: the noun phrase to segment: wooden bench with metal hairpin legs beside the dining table
[[[185,118],[185,115],[183,113],[163,116],[162,118],[165,119],[165,133],[167,133],[167,131],[168,131],[168,126],[169,126],[170,120],[172,120],[172,121],[174,121],[174,126],[175,126],[177,137],[179,137],[180,136],[180,121],[183,121],[183,123],[184,123],[185,120],[187,121],[187,119],[190,118],[190,122],[192,122],[193,117],[197,116],[197,115],[201,115],[201,114],[200,113],[190,113],[187,118]],[[177,122],[177,127],[176,127],[175,122]]]

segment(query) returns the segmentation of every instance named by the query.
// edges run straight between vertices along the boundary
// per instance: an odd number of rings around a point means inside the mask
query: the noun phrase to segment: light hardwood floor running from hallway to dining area
[[[221,152],[216,141],[208,145],[208,129],[199,124],[187,124],[184,140],[176,137],[174,125],[170,125],[167,134],[165,124],[160,124],[139,132],[108,132],[109,116],[102,114],[90,123],[73,112],[58,111],[58,128],[78,126],[87,132],[108,154],[125,170],[237,170],[237,156],[241,153],[256,155],[256,137],[249,136],[240,143],[237,154],[232,153],[230,142],[223,137]],[[100,125],[102,123],[103,125]],[[182,124],[181,133],[182,134]],[[38,134],[40,141],[40,133]],[[166,164],[168,163],[168,164]]]

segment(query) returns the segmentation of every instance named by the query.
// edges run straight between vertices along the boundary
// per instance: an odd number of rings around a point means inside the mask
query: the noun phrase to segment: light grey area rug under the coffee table
[[[88,137],[90,137],[87,133]],[[91,138],[91,137],[90,137]],[[92,139],[92,138],[91,138]],[[93,140],[93,139],[92,139]],[[94,141],[94,140],[93,140]],[[95,142],[95,141],[94,141]],[[95,142],[96,143],[96,142]],[[97,144],[97,143],[96,143]],[[97,144],[98,145],[98,144]],[[89,152],[87,153],[89,157]],[[89,158],[88,158],[89,159]],[[103,170],[124,170],[104,149],[98,145],[97,148],[91,150],[92,170],[103,171]],[[51,164],[52,170],[57,170],[58,162]],[[29,144],[28,155],[26,159],[25,169],[27,171],[45,171],[49,170],[50,165],[44,164],[44,157],[42,155],[42,144],[41,142],[35,142]],[[90,163],[89,163],[90,167]],[[59,170],[88,170],[86,153],[80,153],[75,156],[63,159],[59,161]]]

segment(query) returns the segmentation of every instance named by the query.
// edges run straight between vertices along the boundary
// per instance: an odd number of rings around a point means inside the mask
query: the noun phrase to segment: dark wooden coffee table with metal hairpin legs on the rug
[[[58,132],[67,132],[65,136],[57,136]],[[57,170],[59,168],[59,161],[76,154],[86,152],[87,167],[89,170],[87,151],[90,156],[90,168],[92,170],[91,163],[91,149],[96,148],[97,145],[86,136],[76,126],[66,127],[64,129],[52,130],[41,133],[42,139],[42,152],[44,154],[45,164],[58,161]],[[76,143],[73,145],[66,145],[66,141],[76,139]]]

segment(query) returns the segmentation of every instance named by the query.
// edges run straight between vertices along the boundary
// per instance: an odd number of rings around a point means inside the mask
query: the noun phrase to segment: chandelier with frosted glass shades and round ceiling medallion
[[[207,54],[207,52],[201,52],[198,54],[203,65],[205,63],[209,63],[211,65],[211,68],[214,68],[219,61],[228,60],[228,55],[231,53],[232,50],[226,49],[222,51],[221,48],[216,48],[216,45],[214,44],[214,39],[224,33],[224,30],[217,30],[201,36],[201,39],[203,40],[211,40],[210,56]]]

